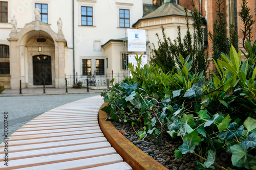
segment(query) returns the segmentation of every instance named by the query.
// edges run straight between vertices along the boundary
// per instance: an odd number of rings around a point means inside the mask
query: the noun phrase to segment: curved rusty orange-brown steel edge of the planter
[[[104,103],[100,109],[106,105],[108,104]],[[131,141],[126,139],[109,120],[105,120],[108,117],[106,112],[99,110],[98,114],[99,126],[102,133],[110,142],[112,147],[117,151],[117,153],[123,158],[123,160],[127,162],[134,170],[167,169],[155,159],[141,151]]]

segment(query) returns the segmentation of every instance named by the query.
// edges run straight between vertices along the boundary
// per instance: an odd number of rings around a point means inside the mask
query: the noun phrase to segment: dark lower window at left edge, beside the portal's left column
[[[0,75],[10,75],[9,46],[0,45]]]

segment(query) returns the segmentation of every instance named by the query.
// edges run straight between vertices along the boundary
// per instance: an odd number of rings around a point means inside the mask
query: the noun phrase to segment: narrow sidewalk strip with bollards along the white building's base
[[[68,88],[68,93],[66,93],[66,88],[46,88],[46,93],[44,94],[43,88],[24,88],[22,89],[22,94],[19,94],[19,90],[5,89],[1,96],[22,96],[22,95],[51,95],[51,94],[84,94],[84,93],[101,93],[102,89],[89,89],[87,92],[87,88]]]

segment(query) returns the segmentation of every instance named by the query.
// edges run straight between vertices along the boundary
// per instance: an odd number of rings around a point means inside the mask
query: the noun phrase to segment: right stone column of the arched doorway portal
[[[66,40],[56,40],[58,43],[55,48],[55,87],[65,88],[65,45]]]

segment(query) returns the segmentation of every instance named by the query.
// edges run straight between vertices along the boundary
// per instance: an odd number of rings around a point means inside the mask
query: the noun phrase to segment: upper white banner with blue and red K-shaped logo
[[[146,51],[146,31],[138,29],[127,29],[128,51],[145,52]]]

